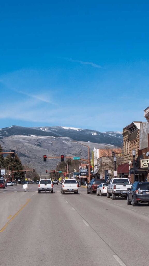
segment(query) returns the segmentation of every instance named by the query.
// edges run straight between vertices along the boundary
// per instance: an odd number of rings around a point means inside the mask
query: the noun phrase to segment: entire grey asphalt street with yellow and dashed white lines
[[[38,185],[0,189],[0,265],[149,265],[149,206],[126,200],[38,194]]]

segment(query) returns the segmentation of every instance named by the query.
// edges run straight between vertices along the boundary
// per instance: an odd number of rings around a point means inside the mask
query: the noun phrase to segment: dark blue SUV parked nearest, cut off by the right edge
[[[137,203],[148,202],[149,204],[149,182],[136,181],[128,188],[127,204],[135,206]]]

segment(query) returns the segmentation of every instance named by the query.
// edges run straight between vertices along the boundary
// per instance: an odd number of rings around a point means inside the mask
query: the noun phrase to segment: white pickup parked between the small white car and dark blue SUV
[[[112,178],[107,187],[107,198],[112,196],[115,200],[116,196],[127,197],[127,189],[130,188],[130,181],[128,178]]]

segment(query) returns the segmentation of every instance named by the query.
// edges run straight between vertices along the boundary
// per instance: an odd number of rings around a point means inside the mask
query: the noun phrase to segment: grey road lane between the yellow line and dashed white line
[[[105,250],[106,258],[102,256]],[[120,265],[113,255],[59,192],[35,193],[1,233],[1,263],[5,266],[98,266],[99,260],[101,265]]]

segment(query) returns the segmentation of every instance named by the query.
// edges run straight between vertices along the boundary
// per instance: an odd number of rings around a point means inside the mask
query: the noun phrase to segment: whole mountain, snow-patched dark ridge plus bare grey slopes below
[[[24,165],[45,174],[46,169],[56,168],[58,159],[43,162],[47,156],[79,156],[87,159],[87,149],[80,143],[89,145],[90,151],[95,148],[121,146],[120,132],[104,132],[75,127],[19,127],[11,126],[0,129],[0,145],[4,151],[14,149]],[[88,143],[90,141],[90,144]]]

